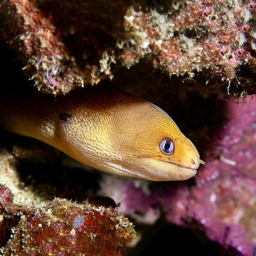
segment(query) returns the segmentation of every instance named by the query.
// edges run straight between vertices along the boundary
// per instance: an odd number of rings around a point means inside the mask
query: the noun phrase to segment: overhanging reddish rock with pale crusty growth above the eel
[[[255,92],[255,1],[150,2],[6,0],[2,41],[38,89],[54,94],[142,58],[169,76],[201,77],[204,94]]]

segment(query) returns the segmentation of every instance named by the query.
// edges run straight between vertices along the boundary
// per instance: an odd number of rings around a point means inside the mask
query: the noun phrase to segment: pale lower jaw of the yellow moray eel
[[[196,175],[198,168],[192,169],[153,158],[134,159],[133,165],[133,177],[136,175],[136,178],[153,181],[187,180]]]

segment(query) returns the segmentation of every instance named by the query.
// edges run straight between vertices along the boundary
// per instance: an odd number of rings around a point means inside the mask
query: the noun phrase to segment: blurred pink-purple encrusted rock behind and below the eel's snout
[[[256,253],[256,102],[226,102],[223,126],[206,146],[201,166],[191,181],[136,187],[128,181],[113,186],[106,178],[102,190],[120,211],[138,222],[153,224],[165,212],[168,222],[200,230],[219,249],[219,255],[254,256]],[[106,185],[106,187],[105,187]],[[168,235],[167,235],[168,236]]]

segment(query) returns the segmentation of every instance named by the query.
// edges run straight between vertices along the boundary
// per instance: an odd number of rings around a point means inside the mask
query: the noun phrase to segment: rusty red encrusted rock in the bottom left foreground
[[[121,256],[135,235],[128,219],[112,207],[58,198],[43,208],[13,204],[11,191],[2,184],[0,214],[0,254],[5,256]]]

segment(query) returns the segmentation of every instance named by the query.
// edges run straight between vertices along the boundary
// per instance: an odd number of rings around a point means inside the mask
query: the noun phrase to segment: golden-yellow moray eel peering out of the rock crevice
[[[196,174],[199,153],[163,110],[109,81],[63,96],[20,90],[0,99],[1,126],[115,175],[166,181]]]

